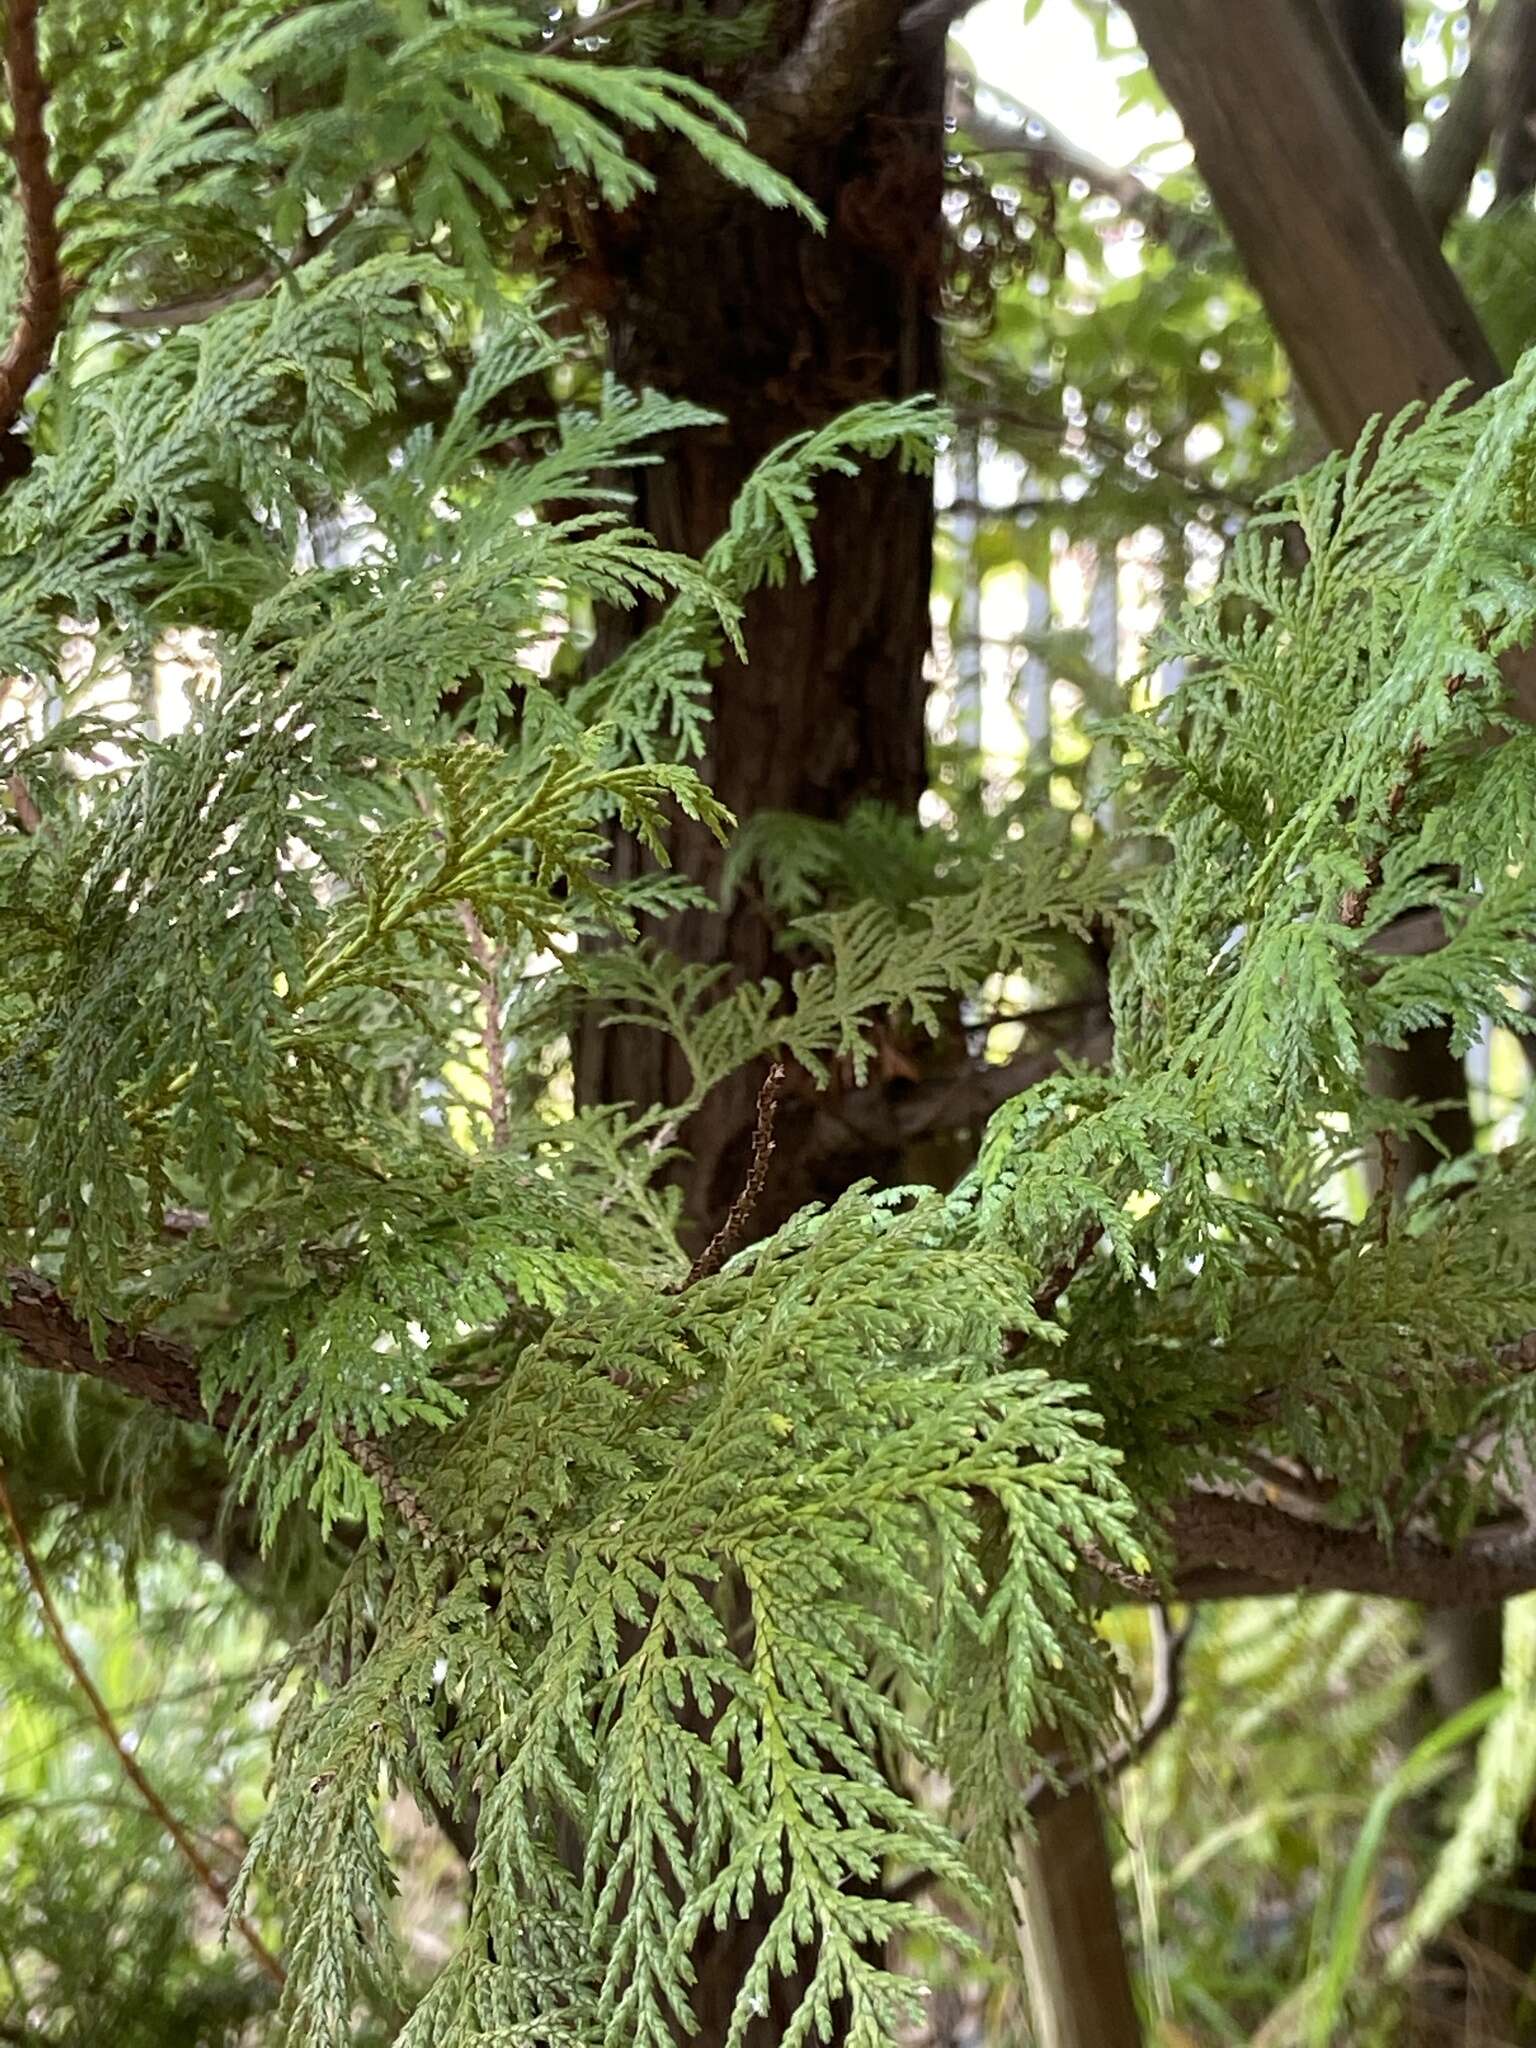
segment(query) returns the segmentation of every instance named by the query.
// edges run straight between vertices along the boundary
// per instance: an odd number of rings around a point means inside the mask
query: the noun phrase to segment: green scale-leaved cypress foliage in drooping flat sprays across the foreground
[[[813,573],[817,479],[922,463],[942,418],[805,434],[702,559],[664,553],[623,471],[705,416],[592,381],[526,272],[551,180],[645,188],[637,129],[803,201],[709,94],[508,8],[43,31],[12,0],[6,1501],[68,1374],[217,1432],[266,1546],[313,1520],[346,1552],[229,1901],[281,1927],[283,2038],[373,2009],[412,2048],[670,2042],[700,1927],[766,1905],[733,2038],[793,1978],[786,2040],[891,2042],[903,1937],[965,1946],[954,1901],[1004,1952],[1038,1774],[1114,1737],[1106,1602],[1536,1587],[1536,1159],[1339,1194],[1423,1114],[1364,1047],[1524,1028],[1536,735],[1499,659],[1536,627],[1536,362],[1249,526],[1174,635],[1190,682],[1118,729],[1114,848],[1008,823],[922,901],[819,903],[868,846],[780,825],[807,965],[725,985],[578,946],[684,897],[614,881],[610,831],[729,834],[709,664]],[[641,596],[592,672],[592,606]],[[750,1243],[788,1071],[860,1075],[881,1020],[1106,924],[1108,1071],[1008,1102],[952,1190]],[[563,1108],[594,1012],[674,1038],[688,1100]],[[678,1130],[762,1059],[690,1253]],[[1276,1460],[1309,1507],[1260,1493]],[[154,1458],[123,1470],[131,1507]],[[475,1810],[414,2011],[391,1784]]]

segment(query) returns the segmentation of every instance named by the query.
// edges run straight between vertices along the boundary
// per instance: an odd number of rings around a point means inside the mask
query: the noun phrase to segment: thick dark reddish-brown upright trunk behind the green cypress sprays
[[[784,29],[784,49],[797,33]],[[662,545],[700,553],[725,528],[752,467],[786,436],[862,399],[938,389],[942,94],[938,20],[918,37],[889,39],[889,68],[866,82],[864,104],[836,133],[780,152],[782,168],[827,215],[825,238],[723,188],[709,195],[705,219],[696,184],[670,186],[662,166],[657,199],[604,250],[614,373],[633,387],[686,395],[727,422],[682,436],[666,465],[641,473],[637,520]],[[915,813],[926,782],[932,520],[928,479],[891,465],[819,492],[815,580],[793,575],[754,596],[750,664],[727,657],[713,676],[702,772],[737,819],[758,811],[842,819],[868,801]],[[616,651],[623,631],[633,623],[606,625],[600,657]],[[719,897],[723,854],[702,831],[680,823],[672,852]],[[639,858],[621,844],[621,872],[635,872]],[[725,963],[733,977],[784,971],[750,889],[723,911],[670,918],[655,936],[686,961]],[[686,1075],[653,1032],[590,1028],[575,1047],[575,1083],[582,1102],[666,1104],[682,1096]],[[696,1237],[719,1225],[741,1188],[758,1085],[756,1073],[729,1079],[684,1133]],[[809,1100],[782,1104],[758,1231],[858,1178],[905,1178],[895,1143],[850,1139],[834,1151],[829,1122],[813,1118]],[[1071,1872],[1049,1876],[1053,1913],[1067,1925],[1083,1907],[1100,1927],[1094,1970],[1069,1972],[1077,2032],[1063,2038],[1135,2048],[1135,2019],[1122,2023],[1130,1989],[1098,1810],[1073,1808],[1063,1827],[1075,1831],[1075,1851]],[[705,1935],[692,2001],[700,2042],[725,2038],[760,1937],[752,1923]],[[754,2025],[752,2048],[776,2042],[784,2019],[780,2003]]]

